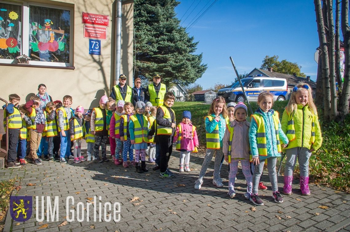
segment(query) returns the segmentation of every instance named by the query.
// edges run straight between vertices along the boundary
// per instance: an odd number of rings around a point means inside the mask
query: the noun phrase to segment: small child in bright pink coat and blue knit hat
[[[174,142],[176,142],[176,150],[180,151],[180,170],[183,172],[183,162],[185,162],[185,171],[191,171],[189,168],[190,153],[198,148],[198,137],[196,127],[191,124],[191,112],[185,110],[182,112],[182,122],[176,127]]]

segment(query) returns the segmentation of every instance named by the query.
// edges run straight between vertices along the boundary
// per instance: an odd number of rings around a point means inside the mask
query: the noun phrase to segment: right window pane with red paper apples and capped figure
[[[29,24],[32,60],[69,63],[70,11],[30,6]]]

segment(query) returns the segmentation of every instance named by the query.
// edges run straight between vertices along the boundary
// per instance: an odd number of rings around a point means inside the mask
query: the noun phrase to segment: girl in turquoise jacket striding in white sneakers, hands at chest
[[[222,146],[226,125],[230,123],[228,111],[223,97],[217,97],[211,103],[208,116],[204,117],[205,132],[207,138],[207,152],[204,157],[201,172],[195,182],[195,189],[201,189],[203,177],[208,169],[209,163],[215,155],[213,184],[223,187],[220,178],[221,160],[223,158]]]

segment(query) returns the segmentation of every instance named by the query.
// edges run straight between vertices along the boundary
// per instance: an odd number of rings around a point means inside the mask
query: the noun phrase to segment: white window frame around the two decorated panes
[[[21,47],[20,47],[20,55],[27,55],[29,56],[29,8],[30,6],[39,6],[39,7],[46,7],[46,8],[54,8],[54,9],[60,9],[70,12],[70,28],[69,28],[69,35],[70,35],[70,44],[69,44],[69,63],[65,62],[50,62],[50,61],[34,61],[29,60],[29,64],[20,64],[18,63],[18,60],[16,59],[0,59],[0,65],[14,65],[14,66],[26,66],[26,67],[48,67],[48,68],[74,68],[73,65],[73,52],[74,52],[74,35],[73,35],[73,27],[74,27],[74,8],[71,7],[64,7],[64,6],[58,6],[58,5],[50,5],[50,4],[40,4],[37,2],[29,2],[29,1],[22,1],[22,2],[11,2],[11,1],[3,1],[5,4],[12,4],[12,5],[20,5],[22,6],[22,38],[21,38]],[[24,52],[27,51],[27,52]]]

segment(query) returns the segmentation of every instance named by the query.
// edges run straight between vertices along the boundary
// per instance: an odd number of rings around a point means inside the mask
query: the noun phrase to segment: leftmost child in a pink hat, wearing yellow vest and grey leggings
[[[84,127],[84,108],[81,105],[75,110],[75,115],[69,120],[69,134],[70,139],[74,143],[73,155],[74,163],[80,163],[86,161],[86,158],[81,155],[82,139],[83,139],[83,127]]]

